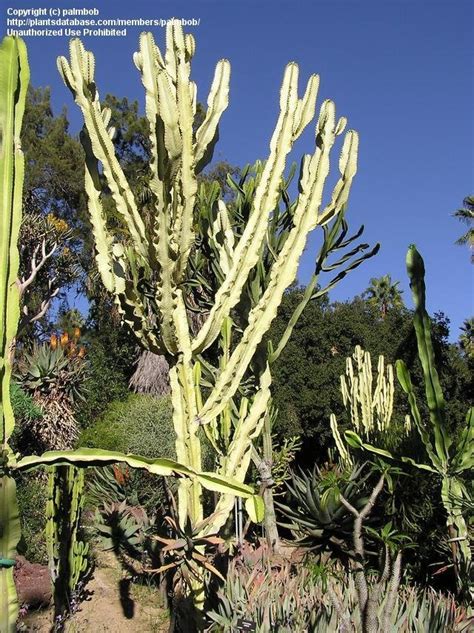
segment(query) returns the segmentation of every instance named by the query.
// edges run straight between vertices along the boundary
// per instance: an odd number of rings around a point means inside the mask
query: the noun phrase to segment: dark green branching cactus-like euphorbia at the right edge
[[[438,475],[458,591],[472,598],[474,596],[472,554],[462,508],[465,500],[470,498],[463,476],[474,467],[474,409],[470,408],[467,412],[466,425],[456,441],[449,430],[446,403],[436,369],[431,340],[431,321],[425,307],[424,262],[413,245],[408,249],[406,265],[415,305],[413,322],[418,356],[423,369],[429,422],[423,420],[418,409],[410,374],[403,361],[397,361],[396,372],[398,381],[408,396],[413,423],[423,442],[429,463],[416,462],[404,456],[400,456],[399,459],[416,468]],[[364,443],[355,432],[346,431],[345,436],[347,442],[354,447],[385,457],[394,457],[389,451]]]

